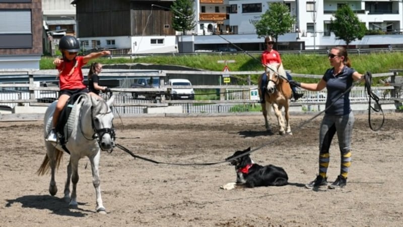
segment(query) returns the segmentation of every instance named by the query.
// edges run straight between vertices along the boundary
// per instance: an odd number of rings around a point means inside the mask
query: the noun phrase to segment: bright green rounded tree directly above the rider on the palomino
[[[257,38],[272,36],[276,41],[280,35],[290,32],[294,24],[295,18],[290,15],[290,9],[283,3],[271,3],[260,20],[253,23]]]

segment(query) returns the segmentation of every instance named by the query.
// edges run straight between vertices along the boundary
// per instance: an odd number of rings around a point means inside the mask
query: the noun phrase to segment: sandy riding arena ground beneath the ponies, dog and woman
[[[35,175],[46,153],[43,123],[0,122],[0,226],[401,226],[403,115],[387,113],[377,132],[368,115],[356,115],[348,185],[318,192],[303,187],[318,171],[322,116],[298,127],[311,117],[292,116],[294,135],[283,137],[267,135],[261,115],[123,118],[123,125],[116,118],[118,144],[161,162],[219,162],[267,144],[251,157],[282,166],[291,184],[226,191],[220,186],[236,179],[227,163],[154,164],[115,149],[101,156],[105,215],[95,212],[87,159],[79,163],[79,207],[69,209],[62,200],[69,155],[56,174],[59,191],[50,196],[50,175]],[[380,116],[371,120],[379,123]],[[330,182],[340,171],[337,141],[335,136],[330,150]]]

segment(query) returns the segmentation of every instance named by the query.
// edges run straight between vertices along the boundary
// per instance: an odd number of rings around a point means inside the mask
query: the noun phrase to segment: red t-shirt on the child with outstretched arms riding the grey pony
[[[81,67],[84,64],[83,56],[77,56],[74,61],[63,61],[58,67],[59,70],[59,86],[60,90],[65,89],[83,89],[87,86],[84,84],[83,71]]]

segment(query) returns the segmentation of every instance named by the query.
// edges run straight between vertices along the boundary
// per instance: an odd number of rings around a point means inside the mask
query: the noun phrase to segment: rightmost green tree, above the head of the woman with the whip
[[[336,11],[334,20],[330,22],[330,28],[336,39],[346,42],[347,48],[354,40],[361,40],[367,31],[365,24],[360,22],[347,4]]]

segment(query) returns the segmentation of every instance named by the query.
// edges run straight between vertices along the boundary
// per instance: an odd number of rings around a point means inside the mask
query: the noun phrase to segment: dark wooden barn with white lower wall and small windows
[[[74,0],[78,34],[86,50],[126,49],[129,53],[142,45],[164,44],[175,39],[172,28],[173,1]],[[153,4],[161,6],[152,6]]]

